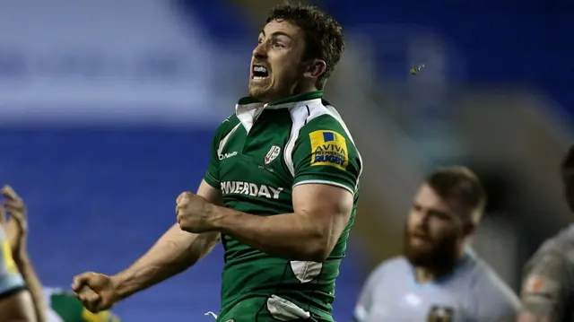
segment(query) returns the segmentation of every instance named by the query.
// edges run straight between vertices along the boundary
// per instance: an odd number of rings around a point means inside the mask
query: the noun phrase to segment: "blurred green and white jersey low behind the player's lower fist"
[[[72,292],[50,287],[44,287],[43,292],[48,304],[48,322],[120,322],[109,311],[91,313]]]

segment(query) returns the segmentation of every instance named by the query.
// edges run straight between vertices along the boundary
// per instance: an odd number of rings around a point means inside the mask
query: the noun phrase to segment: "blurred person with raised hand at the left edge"
[[[4,186],[0,193],[4,198],[0,206],[0,322],[44,322],[46,308],[38,276],[31,267],[21,268],[30,263],[26,245],[21,242],[27,231],[22,220],[25,207],[12,187]],[[10,214],[9,220],[6,213]],[[14,231],[20,231],[22,239]],[[11,244],[15,239],[19,239],[20,246],[14,249]]]

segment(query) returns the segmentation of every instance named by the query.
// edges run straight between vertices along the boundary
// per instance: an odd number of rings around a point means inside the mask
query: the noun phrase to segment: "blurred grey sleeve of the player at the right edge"
[[[568,272],[568,263],[559,254],[549,252],[533,257],[525,269],[519,320],[561,320],[571,295]]]

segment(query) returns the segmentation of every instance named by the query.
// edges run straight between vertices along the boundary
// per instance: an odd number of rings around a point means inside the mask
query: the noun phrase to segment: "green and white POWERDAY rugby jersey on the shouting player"
[[[292,213],[292,189],[304,184],[342,187],[354,196],[351,220],[324,263],[271,257],[222,236],[221,314],[241,300],[266,297],[272,312],[284,311],[288,300],[330,317],[359,197],[361,156],[340,115],[322,96],[316,91],[269,104],[241,99],[214,135],[204,180],[222,190],[229,208],[260,216]]]

